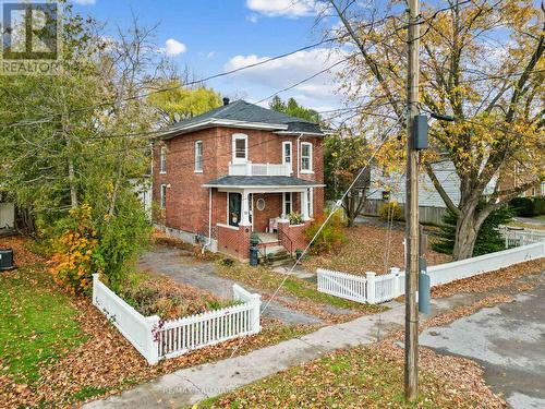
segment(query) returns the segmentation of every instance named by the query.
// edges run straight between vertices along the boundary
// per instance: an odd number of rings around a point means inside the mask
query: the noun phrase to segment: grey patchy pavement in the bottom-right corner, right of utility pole
[[[420,342],[441,353],[470,358],[486,383],[512,408],[545,408],[545,273],[516,302],[487,308],[444,327],[428,328]]]

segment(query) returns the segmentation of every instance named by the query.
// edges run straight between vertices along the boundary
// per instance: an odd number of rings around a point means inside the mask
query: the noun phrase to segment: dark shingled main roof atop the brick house
[[[192,124],[211,119],[281,124],[288,125],[288,132],[310,132],[323,134],[317,123],[308,122],[301,118],[290,117],[286,113],[277,112],[272,109],[263,108],[258,105],[250,104],[242,99],[235,100],[228,105],[223,105],[197,117],[177,122],[167,128],[165,131],[172,132],[177,129],[183,129],[186,127],[191,127]]]

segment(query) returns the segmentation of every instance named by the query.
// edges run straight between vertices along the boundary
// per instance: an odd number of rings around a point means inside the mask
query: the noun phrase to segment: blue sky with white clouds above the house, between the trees
[[[126,27],[132,14],[141,24],[158,24],[155,41],[180,67],[197,77],[263,61],[315,44],[322,31],[314,27],[314,0],[72,0],[82,14],[106,23],[112,32]],[[334,25],[335,22],[328,22]],[[214,80],[213,86],[228,97],[258,101],[279,89],[316,74],[342,59],[338,51],[314,48],[234,75]],[[318,110],[341,106],[334,68],[280,94],[295,97]],[[267,103],[261,103],[266,105]]]

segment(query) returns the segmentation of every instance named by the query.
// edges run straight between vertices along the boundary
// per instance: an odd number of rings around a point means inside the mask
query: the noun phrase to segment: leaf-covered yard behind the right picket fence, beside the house
[[[348,241],[337,254],[308,256],[303,265],[315,272],[328,268],[344,273],[364,275],[365,272],[385,274],[390,267],[404,266],[404,233],[400,230],[388,231],[386,228],[359,225],[344,228]],[[452,257],[431,250],[425,254],[428,265],[448,263]],[[388,258],[386,266],[385,260]],[[385,268],[387,267],[387,268]]]

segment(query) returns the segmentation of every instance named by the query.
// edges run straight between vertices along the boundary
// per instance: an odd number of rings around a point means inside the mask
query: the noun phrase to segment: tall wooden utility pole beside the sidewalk
[[[419,393],[419,152],[413,132],[419,113],[419,37],[420,0],[409,1],[408,72],[407,72],[407,201],[405,201],[405,399]]]

